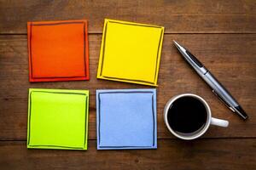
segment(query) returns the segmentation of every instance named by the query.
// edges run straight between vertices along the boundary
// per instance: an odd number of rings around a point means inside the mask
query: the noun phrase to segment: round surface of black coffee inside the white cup
[[[169,108],[167,120],[176,133],[195,133],[207,122],[207,109],[199,99],[185,96]]]

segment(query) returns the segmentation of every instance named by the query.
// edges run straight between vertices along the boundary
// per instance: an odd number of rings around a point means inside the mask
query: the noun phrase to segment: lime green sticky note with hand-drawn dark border
[[[88,90],[30,88],[27,148],[87,150]]]

